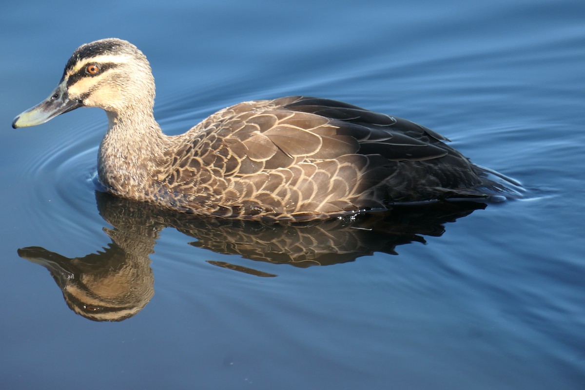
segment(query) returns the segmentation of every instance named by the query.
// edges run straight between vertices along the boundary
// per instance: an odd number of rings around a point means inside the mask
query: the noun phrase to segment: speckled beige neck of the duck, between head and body
[[[156,191],[156,167],[164,164],[168,139],[152,111],[132,116],[108,113],[108,131],[99,146],[98,175],[105,187],[142,201]]]

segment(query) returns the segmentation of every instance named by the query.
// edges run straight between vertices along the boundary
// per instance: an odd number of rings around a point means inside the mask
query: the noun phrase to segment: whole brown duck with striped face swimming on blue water
[[[517,198],[519,183],[473,164],[406,119],[309,96],[238,103],[183,134],[154,119],[150,63],[116,38],[82,44],[47,99],[13,128],[80,107],[106,112],[97,177],[105,191],[182,213],[318,220],[395,205]]]

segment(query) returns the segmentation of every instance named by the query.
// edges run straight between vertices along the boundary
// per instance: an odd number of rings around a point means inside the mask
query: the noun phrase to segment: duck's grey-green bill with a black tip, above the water
[[[59,114],[74,110],[80,106],[80,101],[69,98],[66,85],[61,83],[44,101],[14,118],[12,127],[16,129],[16,127],[40,125],[55,118]]]

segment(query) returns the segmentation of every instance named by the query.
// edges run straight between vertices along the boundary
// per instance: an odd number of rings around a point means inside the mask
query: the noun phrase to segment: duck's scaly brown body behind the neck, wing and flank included
[[[432,130],[328,99],[240,103],[173,141],[157,197],[195,213],[314,219],[506,189]]]

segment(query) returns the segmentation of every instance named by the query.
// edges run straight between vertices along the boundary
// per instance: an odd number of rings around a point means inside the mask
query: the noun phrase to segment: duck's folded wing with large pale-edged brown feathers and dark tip
[[[346,154],[424,161],[452,150],[442,142],[445,137],[408,120],[303,96],[240,103],[212,115],[202,128],[194,151],[205,156],[209,150],[225,147],[235,157],[228,159],[226,175],[288,168]]]

